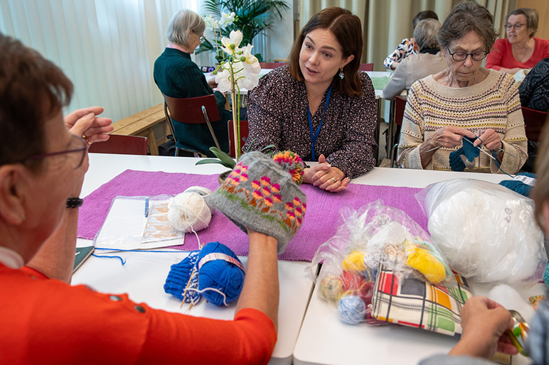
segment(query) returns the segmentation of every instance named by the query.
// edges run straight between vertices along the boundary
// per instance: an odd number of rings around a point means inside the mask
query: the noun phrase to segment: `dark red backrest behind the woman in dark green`
[[[213,94],[206,95],[205,97],[186,98],[162,95],[166,101],[171,118],[176,121],[188,124],[206,123],[202,107],[206,107],[206,113],[208,113],[210,121],[218,121],[220,119],[218,104],[215,104],[215,96]]]

